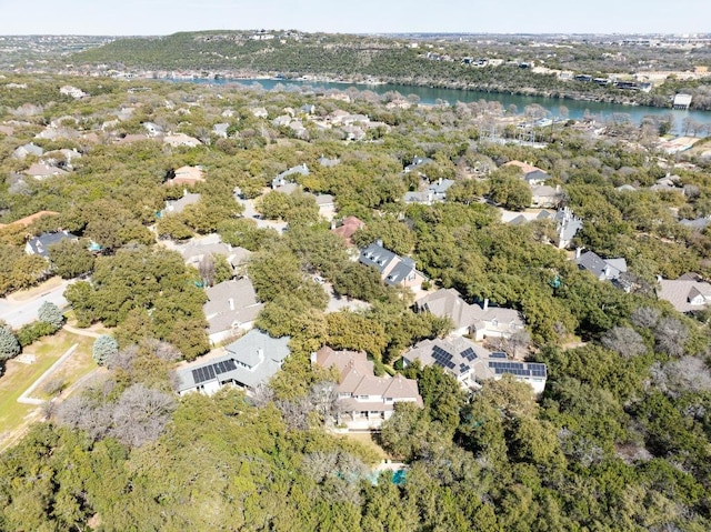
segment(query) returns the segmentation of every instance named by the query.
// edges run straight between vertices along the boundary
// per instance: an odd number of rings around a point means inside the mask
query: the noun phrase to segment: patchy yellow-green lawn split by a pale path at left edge
[[[32,404],[18,403],[18,398],[74,343],[79,344],[74,353],[47,379],[61,378],[70,385],[97,367],[91,359],[92,338],[60,331],[23,349],[23,353],[37,357],[34,363],[24,364],[17,360],[7,362],[4,373],[0,377],[0,449],[4,446],[6,440],[11,440],[13,433],[22,429],[28,415],[38,409]],[[42,391],[43,384],[34,390],[33,398],[50,399]]]

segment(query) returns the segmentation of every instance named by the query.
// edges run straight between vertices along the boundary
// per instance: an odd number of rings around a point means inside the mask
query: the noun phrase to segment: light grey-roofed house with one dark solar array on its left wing
[[[252,329],[229,344],[227,354],[176,372],[178,393],[201,392],[213,394],[224,385],[246,389],[248,392],[266,384],[289,355],[289,337],[271,338]]]

